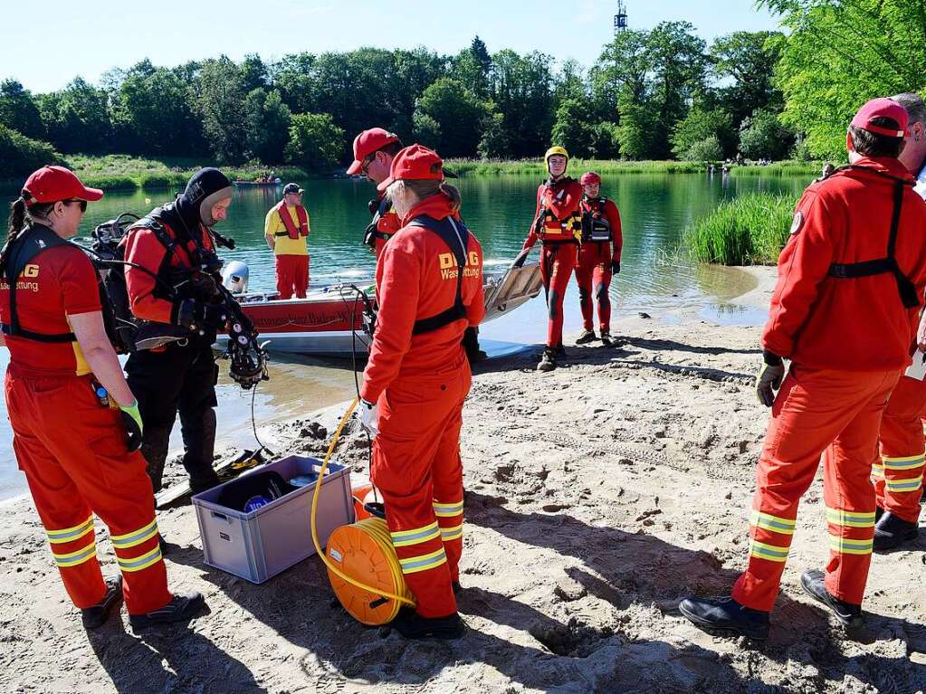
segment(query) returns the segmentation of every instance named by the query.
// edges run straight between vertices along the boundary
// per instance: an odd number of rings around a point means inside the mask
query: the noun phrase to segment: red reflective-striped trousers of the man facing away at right
[[[770,611],[795,532],[797,502],[823,454],[823,500],[830,532],[826,589],[861,604],[874,538],[871,461],[897,371],[832,371],[791,365],[771,410],[756,472],[749,565],[733,599]]]

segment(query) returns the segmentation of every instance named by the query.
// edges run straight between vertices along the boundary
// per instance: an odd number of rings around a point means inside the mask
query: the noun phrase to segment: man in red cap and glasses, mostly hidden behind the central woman
[[[369,182],[378,186],[389,178],[393,157],[401,149],[402,141],[398,135],[382,128],[364,130],[354,138],[354,162],[347,167],[347,175],[363,174]],[[363,242],[379,258],[386,242],[402,225],[385,192],[378,191],[377,196],[369,201],[369,212],[373,220],[363,235]]]

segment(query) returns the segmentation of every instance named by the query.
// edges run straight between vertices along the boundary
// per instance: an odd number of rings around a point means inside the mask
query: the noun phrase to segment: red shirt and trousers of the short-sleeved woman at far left
[[[76,248],[36,255],[19,277],[22,328],[68,333],[68,316],[100,311],[94,266]],[[9,322],[9,288],[0,282],[0,319]],[[119,409],[102,406],[76,341],[48,343],[6,337],[6,409],[13,449],[26,475],[61,578],[80,609],[103,600],[94,514],[124,576],[131,614],[171,600],[158,546],[155,501],[140,452],[126,448]]]

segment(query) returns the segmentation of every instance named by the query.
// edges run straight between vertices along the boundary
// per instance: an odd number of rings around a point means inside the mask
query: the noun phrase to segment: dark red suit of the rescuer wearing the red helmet
[[[582,217],[605,219],[610,227],[610,241],[593,241],[585,238],[579,246],[579,262],[576,265],[576,283],[579,285],[579,306],[582,308],[582,327],[592,329],[592,297],[598,301],[598,328],[601,332],[611,331],[611,300],[607,291],[611,286],[611,265],[620,263],[620,251],[624,245],[620,233],[618,206],[607,198],[590,200],[582,197]],[[591,221],[591,220],[590,220]],[[587,225],[586,225],[587,226]],[[584,229],[584,227],[583,227]]]

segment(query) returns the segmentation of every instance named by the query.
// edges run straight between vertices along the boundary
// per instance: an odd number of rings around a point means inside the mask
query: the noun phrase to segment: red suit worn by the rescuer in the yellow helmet
[[[540,184],[537,188],[537,205],[533,218],[544,214],[540,233],[531,227],[522,250],[533,248],[540,239],[543,250],[540,256],[540,275],[544,280],[549,322],[546,327],[546,346],[556,350],[563,344],[563,299],[569,287],[569,277],[576,265],[579,251],[578,234],[582,228],[579,202],[582,186],[579,181],[563,178]]]

